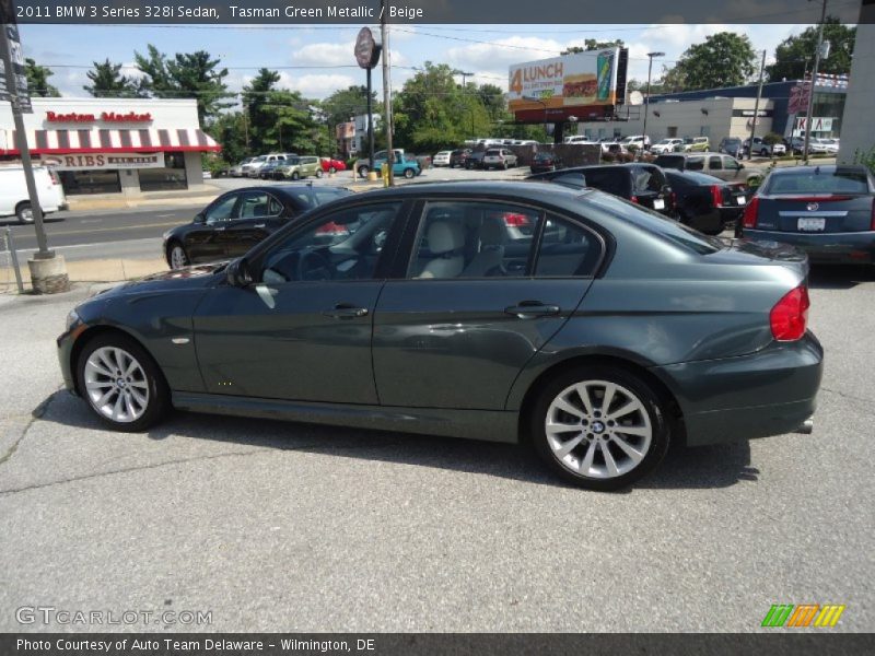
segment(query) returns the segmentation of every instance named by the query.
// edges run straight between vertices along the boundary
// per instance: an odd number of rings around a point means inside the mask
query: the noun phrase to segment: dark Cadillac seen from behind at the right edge
[[[743,233],[812,261],[875,263],[875,179],[864,166],[775,168],[745,209]]]

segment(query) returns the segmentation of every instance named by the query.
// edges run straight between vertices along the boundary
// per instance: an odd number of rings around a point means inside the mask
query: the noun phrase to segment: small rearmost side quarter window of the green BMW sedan
[[[592,276],[602,256],[602,244],[586,229],[559,216],[547,216],[538,257],[537,278]]]

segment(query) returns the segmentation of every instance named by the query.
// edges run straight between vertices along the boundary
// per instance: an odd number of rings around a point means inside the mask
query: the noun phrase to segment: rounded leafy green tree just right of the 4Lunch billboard
[[[757,70],[756,59],[747,35],[720,32],[687,48],[665,78],[669,85],[686,91],[740,86]]]

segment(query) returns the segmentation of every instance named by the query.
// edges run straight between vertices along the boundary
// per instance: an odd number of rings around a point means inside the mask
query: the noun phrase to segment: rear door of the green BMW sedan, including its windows
[[[576,272],[597,261],[602,243],[504,201],[435,200],[415,214],[407,257],[374,317],[381,405],[501,410],[520,371],[586,294],[591,281]]]

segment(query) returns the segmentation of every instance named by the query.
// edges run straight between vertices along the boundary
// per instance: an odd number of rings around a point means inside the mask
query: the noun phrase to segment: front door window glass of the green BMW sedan
[[[370,280],[400,210],[400,202],[345,208],[294,231],[265,254],[269,284]]]

